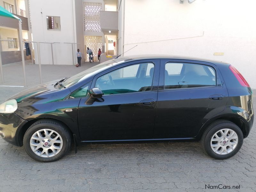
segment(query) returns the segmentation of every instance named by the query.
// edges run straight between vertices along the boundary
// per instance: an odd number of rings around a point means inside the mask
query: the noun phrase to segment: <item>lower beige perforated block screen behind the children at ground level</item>
[[[98,50],[102,50],[102,36],[85,36],[85,53],[89,47],[92,50],[94,61],[98,61]],[[89,61],[89,54],[86,54],[87,61]]]

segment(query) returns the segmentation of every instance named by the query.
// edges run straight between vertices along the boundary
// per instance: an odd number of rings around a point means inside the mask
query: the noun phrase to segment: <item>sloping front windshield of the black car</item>
[[[72,77],[69,77],[67,79],[65,79],[62,83],[62,85],[64,85],[65,87],[69,87],[73,84],[76,84],[77,82],[80,82],[82,80],[84,80],[85,78],[87,78],[88,76],[97,74],[101,71],[104,71],[107,68],[110,68],[111,66],[115,65],[116,62],[113,60],[108,60],[105,61],[103,63],[100,63],[99,65],[96,65],[94,67],[91,67],[89,69],[86,69],[85,71],[78,73]]]

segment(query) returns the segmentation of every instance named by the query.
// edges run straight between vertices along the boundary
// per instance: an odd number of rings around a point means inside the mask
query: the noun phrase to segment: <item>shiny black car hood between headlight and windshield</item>
[[[59,89],[55,89],[54,88],[54,85],[60,81],[61,79],[58,79],[58,80],[54,80],[54,81],[51,81],[51,82],[47,82],[45,84],[39,84],[39,85],[36,85],[34,87],[31,87],[29,89],[26,89],[22,92],[19,92],[15,95],[13,95],[11,98],[9,98],[8,100],[11,100],[11,99],[16,99],[17,102],[20,102],[26,98],[31,98],[31,97],[35,97],[37,95],[40,95],[42,93],[47,93],[47,92],[53,92],[53,91],[58,91]]]

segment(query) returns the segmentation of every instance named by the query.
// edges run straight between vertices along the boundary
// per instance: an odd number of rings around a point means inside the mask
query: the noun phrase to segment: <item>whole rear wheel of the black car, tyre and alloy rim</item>
[[[240,150],[243,139],[243,132],[236,124],[219,120],[207,127],[201,138],[201,145],[211,157],[227,159]]]

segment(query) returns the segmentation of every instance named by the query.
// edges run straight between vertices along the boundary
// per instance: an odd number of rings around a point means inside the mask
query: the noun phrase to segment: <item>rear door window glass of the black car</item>
[[[216,86],[216,72],[214,68],[192,63],[165,64],[165,89],[205,86]]]

